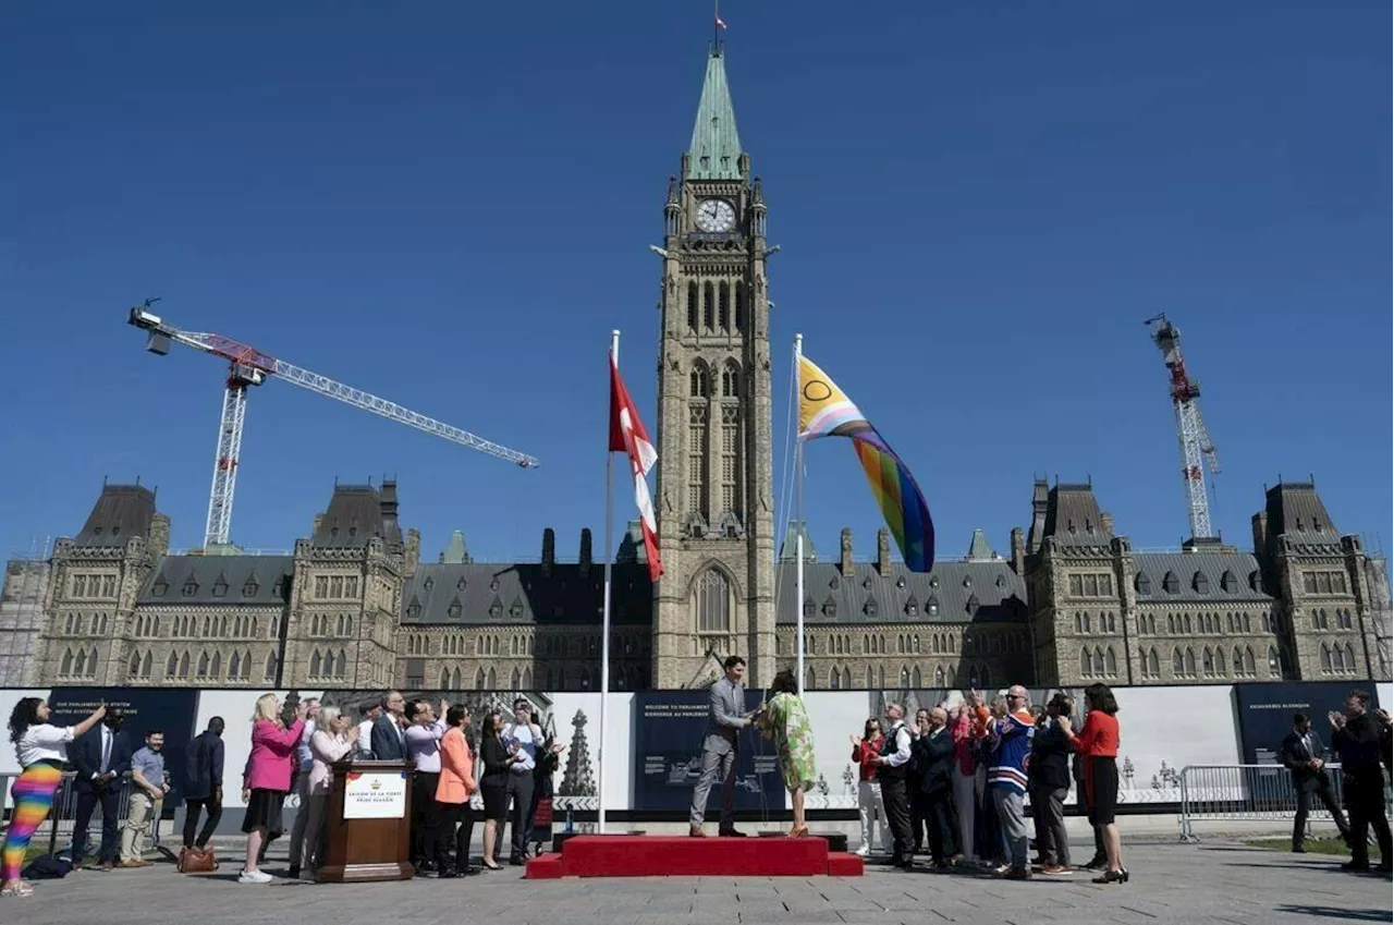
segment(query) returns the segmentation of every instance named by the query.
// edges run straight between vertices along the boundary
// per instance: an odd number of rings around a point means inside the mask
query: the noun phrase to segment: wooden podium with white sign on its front
[[[325,820],[321,883],[408,880],[411,866],[410,762],[340,762],[333,766]]]

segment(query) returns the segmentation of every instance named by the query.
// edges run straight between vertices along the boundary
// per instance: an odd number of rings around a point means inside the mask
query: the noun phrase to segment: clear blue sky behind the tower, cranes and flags
[[[202,539],[223,366],[127,307],[530,452],[523,472],[272,382],[234,541],[290,548],[385,473],[431,561],[576,554],[604,523],[605,347],[654,420],[666,180],[704,0],[13,3],[0,14],[0,552],[103,476]],[[940,555],[1092,477],[1138,547],[1186,533],[1161,356],[1184,335],[1248,547],[1306,479],[1394,546],[1394,6],[1384,0],[726,0],[765,180],[776,437],[796,332],[923,486]],[[776,452],[776,467],[782,460]],[[776,474],[778,480],[778,474]],[[776,484],[776,491],[779,486]],[[620,518],[633,516],[623,487]],[[810,448],[822,554],[880,515]]]

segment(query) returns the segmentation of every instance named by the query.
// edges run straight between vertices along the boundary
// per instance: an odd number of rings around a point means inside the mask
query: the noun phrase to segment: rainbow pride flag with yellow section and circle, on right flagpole
[[[799,439],[848,437],[912,572],[934,568],[934,522],[914,476],[871,421],[809,357],[799,357]]]

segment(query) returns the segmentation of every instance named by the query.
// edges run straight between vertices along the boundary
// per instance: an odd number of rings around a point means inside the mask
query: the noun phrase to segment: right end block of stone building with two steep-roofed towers
[[[1138,552],[1092,486],[1037,481],[1025,572],[1037,684],[1387,681],[1384,562],[1335,530],[1310,483],[1269,488],[1253,525],[1255,552],[1216,540]]]

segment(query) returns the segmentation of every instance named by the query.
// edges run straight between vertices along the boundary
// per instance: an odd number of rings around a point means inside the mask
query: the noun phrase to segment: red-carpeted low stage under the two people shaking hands
[[[824,838],[577,836],[527,862],[530,880],[563,876],[861,876],[861,858]]]

